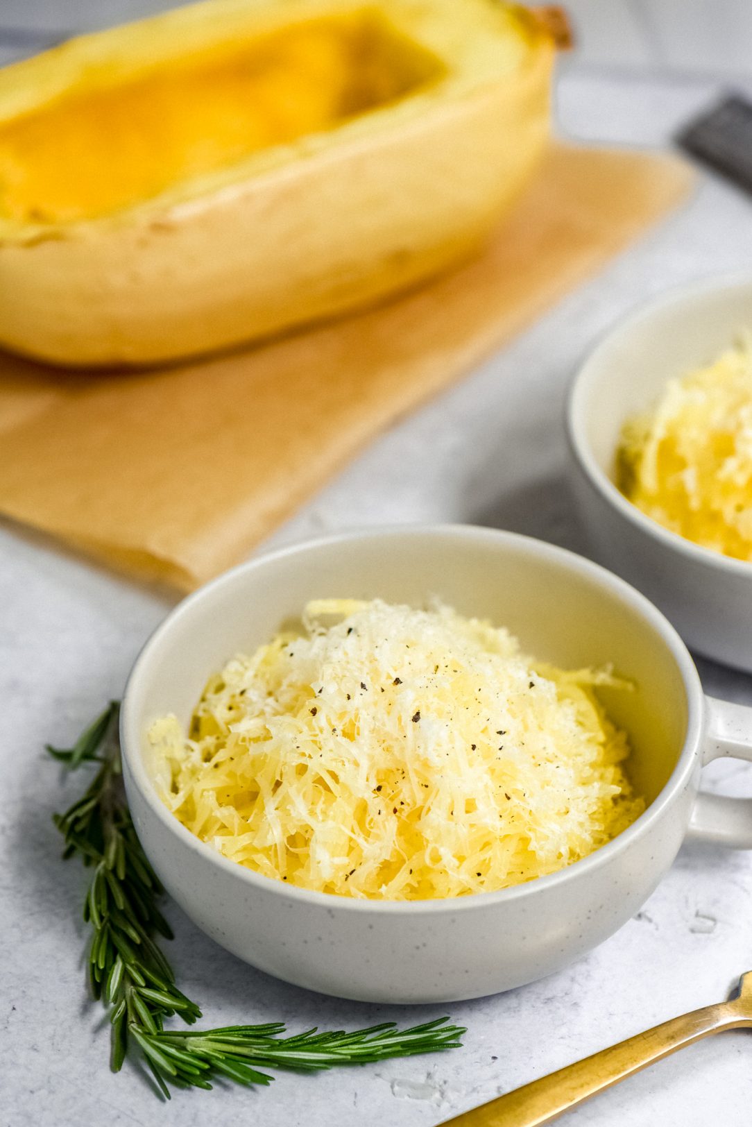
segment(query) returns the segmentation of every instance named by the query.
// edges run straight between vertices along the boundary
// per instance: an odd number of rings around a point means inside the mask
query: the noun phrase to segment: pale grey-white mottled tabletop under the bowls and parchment
[[[695,69],[661,69],[649,28],[636,20],[636,12],[648,8],[640,0],[614,5],[611,25],[602,15],[596,18],[595,2],[576,0],[572,7],[582,21],[587,17],[594,23],[584,61],[575,57],[564,68],[563,132],[663,144],[720,88],[720,68],[714,77],[705,62]],[[658,7],[665,11],[671,5]],[[742,12],[744,6],[737,8]],[[127,9],[124,2],[121,10]],[[83,26],[86,20],[78,18],[82,12],[94,18],[92,6],[82,0],[59,7],[1,0],[0,57],[20,50],[10,43],[12,36],[3,39],[3,25],[12,25],[14,35],[61,26],[54,24],[55,12],[65,27]],[[740,35],[749,27],[745,12]],[[700,41],[685,46],[684,55],[701,54]],[[620,59],[621,65],[611,69],[609,57]],[[752,88],[744,78],[740,81]],[[702,177],[685,208],[462,384],[375,442],[273,542],[356,524],[451,520],[512,527],[586,551],[564,485],[561,406],[574,365],[646,295],[685,278],[746,267],[751,260],[752,199]],[[59,841],[50,822],[78,783],[64,784],[42,745],[73,738],[107,698],[121,693],[139,647],[169,605],[162,593],[0,525],[1,1127],[197,1127],[220,1121],[228,1127],[249,1121],[263,1127],[431,1127],[639,1029],[720,1000],[741,971],[752,967],[752,858],[687,846],[644,911],[576,966],[511,994],[449,1006],[452,1018],[468,1026],[461,1050],[318,1077],[281,1076],[271,1091],[177,1093],[163,1107],[136,1072],[113,1077],[101,1013],[87,1003],[83,990],[82,873],[76,863],[57,860]],[[752,703],[752,678],[705,663],[701,672],[714,693]],[[751,795],[752,769],[734,762],[716,765],[709,784]],[[207,1022],[283,1019],[293,1029],[352,1027],[441,1011],[356,1005],[286,986],[225,955],[174,907],[168,914],[177,932],[170,956]],[[561,1122],[747,1127],[751,1106],[752,1042],[744,1033],[726,1033],[611,1090]]]

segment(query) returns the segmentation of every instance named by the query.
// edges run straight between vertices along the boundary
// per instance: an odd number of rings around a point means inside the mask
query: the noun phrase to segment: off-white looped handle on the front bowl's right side
[[[752,762],[752,708],[706,696],[702,765],[724,755]],[[726,798],[700,791],[687,834],[690,841],[752,849],[752,798]]]

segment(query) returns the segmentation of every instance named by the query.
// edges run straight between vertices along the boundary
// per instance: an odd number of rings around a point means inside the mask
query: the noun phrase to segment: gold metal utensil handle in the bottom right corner
[[[506,1095],[445,1119],[440,1127],[450,1124],[452,1127],[539,1127],[685,1045],[723,1029],[745,1026],[752,1026],[752,970],[742,975],[738,994],[729,1002],[706,1005],[664,1021]]]

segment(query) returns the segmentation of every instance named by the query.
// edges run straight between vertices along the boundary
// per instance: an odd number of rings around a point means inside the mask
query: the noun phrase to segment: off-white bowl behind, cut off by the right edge
[[[700,654],[752,672],[752,564],[700,548],[645,516],[614,483],[622,424],[666,380],[752,331],[752,276],[671,291],[623,321],[572,385],[567,433],[580,514],[596,558],[639,587]]]

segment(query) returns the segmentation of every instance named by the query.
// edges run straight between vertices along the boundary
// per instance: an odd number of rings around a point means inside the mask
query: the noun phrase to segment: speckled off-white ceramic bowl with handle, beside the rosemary
[[[221,857],[161,802],[148,728],[166,712],[187,720],[211,672],[267,640],[309,598],[335,595],[413,605],[439,595],[461,613],[507,625],[541,659],[565,667],[613,662],[636,684],[634,693],[604,698],[631,735],[631,773],[646,813],[560,872],[445,900],[330,896]],[[127,684],[121,733],[139,836],[178,904],[241,959],[344,997],[439,1002],[519,986],[629,920],[671,866],[692,816],[693,832],[707,838],[752,845],[752,809],[742,800],[697,798],[705,761],[752,755],[752,710],[709,704],[676,632],[621,579],[550,544],[488,529],[354,533],[229,571],[185,600],[147,644]]]

